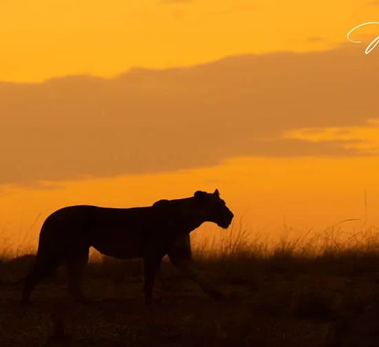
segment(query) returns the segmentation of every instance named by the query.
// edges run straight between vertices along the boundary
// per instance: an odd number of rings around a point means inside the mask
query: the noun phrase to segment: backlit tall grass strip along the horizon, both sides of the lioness
[[[40,216],[37,217],[35,224]],[[235,260],[237,258],[268,259],[283,257],[301,257],[315,259],[318,257],[340,257],[346,254],[378,254],[379,227],[362,225],[358,230],[347,232],[342,229],[343,222],[326,227],[322,231],[313,228],[303,231],[300,236],[291,236],[293,229],[283,224],[280,233],[256,233],[240,218],[232,222],[226,230],[220,230],[212,236],[204,236],[201,231],[191,235],[192,250],[198,260]],[[299,233],[297,232],[297,235]],[[19,257],[23,254],[36,253],[37,239],[30,233],[24,233],[17,242],[0,237],[0,258]],[[95,250],[90,252],[90,260],[100,260],[101,255]]]

